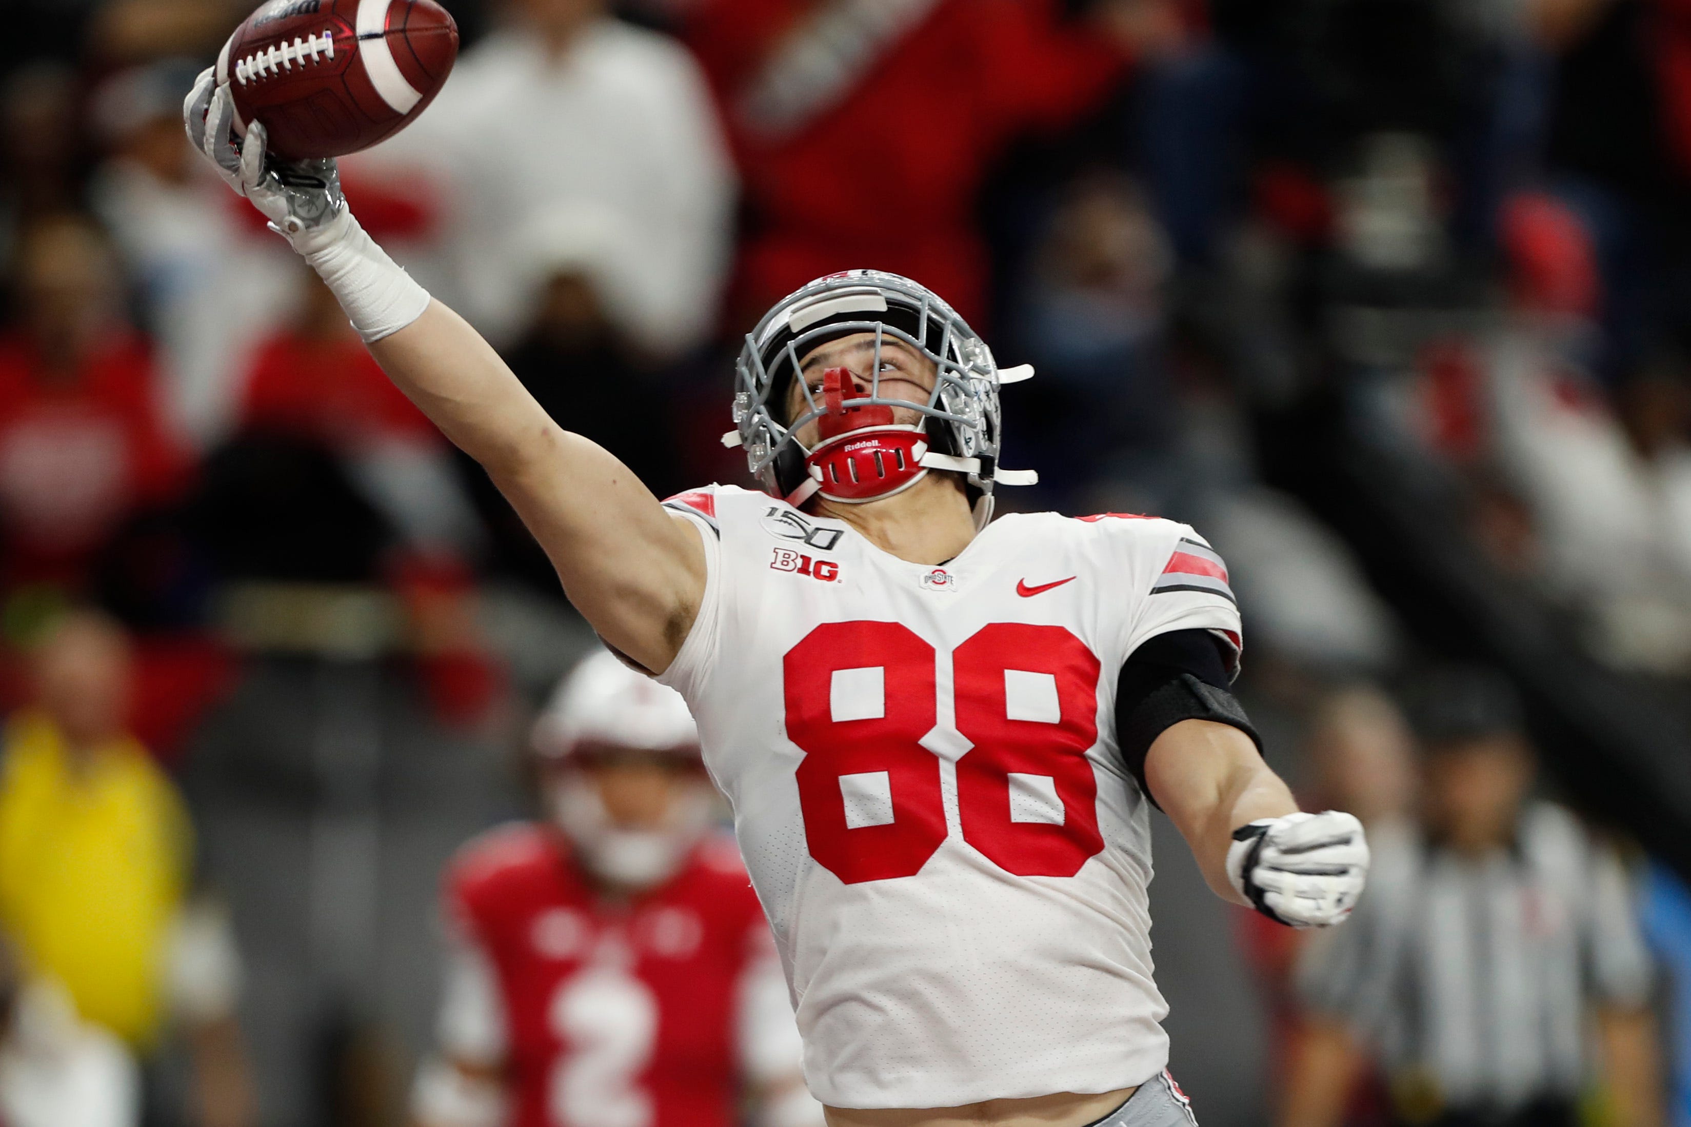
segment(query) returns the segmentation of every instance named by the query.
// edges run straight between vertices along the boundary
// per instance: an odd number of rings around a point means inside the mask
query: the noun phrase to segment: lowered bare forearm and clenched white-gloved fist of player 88
[[[1368,875],[1361,823],[1331,809],[1299,813],[1240,728],[1211,720],[1165,728],[1145,754],[1145,782],[1223,899],[1294,928],[1351,914]]]

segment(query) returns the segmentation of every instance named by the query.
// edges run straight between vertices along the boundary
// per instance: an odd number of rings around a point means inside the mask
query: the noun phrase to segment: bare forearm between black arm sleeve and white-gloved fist
[[[1228,879],[1233,831],[1258,818],[1297,811],[1292,791],[1261,760],[1256,745],[1238,728],[1182,720],[1152,743],[1145,777],[1209,887],[1224,901],[1246,904]]]

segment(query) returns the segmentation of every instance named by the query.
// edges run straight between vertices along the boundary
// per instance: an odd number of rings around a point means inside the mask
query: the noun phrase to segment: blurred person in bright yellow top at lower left
[[[122,727],[130,676],[127,639],[90,612],[34,654],[34,705],[8,721],[0,772],[0,919],[34,973],[137,1054],[178,1019],[200,1122],[244,1127],[240,960],[220,914],[188,899],[188,814]]]

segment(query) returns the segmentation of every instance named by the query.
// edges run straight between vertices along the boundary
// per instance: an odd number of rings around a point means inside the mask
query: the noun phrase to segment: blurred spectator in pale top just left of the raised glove
[[[129,267],[159,345],[162,407],[176,434],[206,448],[235,422],[247,350],[294,304],[287,247],[230,206],[228,189],[183,139],[184,59],[120,71],[93,93],[90,117],[108,159],[95,210]]]

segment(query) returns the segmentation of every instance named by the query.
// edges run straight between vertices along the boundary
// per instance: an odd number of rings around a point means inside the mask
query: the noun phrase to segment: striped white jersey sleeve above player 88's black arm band
[[[1135,532],[1128,571],[1140,600],[1126,652],[1170,630],[1209,630],[1224,642],[1228,674],[1236,674],[1245,642],[1228,564],[1187,524],[1146,520]]]

